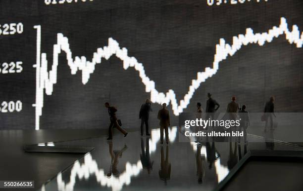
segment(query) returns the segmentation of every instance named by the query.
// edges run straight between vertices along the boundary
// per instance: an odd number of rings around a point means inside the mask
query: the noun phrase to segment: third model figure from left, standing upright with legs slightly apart
[[[169,142],[168,126],[170,126],[169,111],[166,109],[166,104],[162,104],[162,109],[158,112],[158,119],[160,120],[160,140],[163,144],[163,131],[165,131],[166,144]]]

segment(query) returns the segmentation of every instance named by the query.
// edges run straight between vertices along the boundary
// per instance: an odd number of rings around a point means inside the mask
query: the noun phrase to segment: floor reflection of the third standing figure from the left
[[[169,146],[166,146],[166,157],[164,159],[163,146],[161,146],[161,165],[159,170],[159,177],[164,181],[164,185],[167,185],[167,181],[170,180],[171,164],[169,162]]]

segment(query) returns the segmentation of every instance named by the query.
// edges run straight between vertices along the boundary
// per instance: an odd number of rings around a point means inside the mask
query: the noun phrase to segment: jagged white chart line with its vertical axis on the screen
[[[108,45],[103,48],[98,48],[97,52],[93,53],[92,61],[87,61],[84,56],[72,57],[72,52],[69,47],[68,38],[63,34],[57,34],[57,43],[53,45],[53,59],[50,72],[48,72],[47,54],[40,53],[41,49],[41,26],[34,26],[37,29],[37,63],[36,67],[36,103],[33,104],[36,107],[36,130],[40,129],[40,116],[42,115],[43,101],[44,101],[44,89],[47,95],[51,95],[53,91],[53,84],[57,82],[57,66],[58,55],[61,50],[66,53],[67,64],[71,69],[71,74],[75,75],[78,70],[82,71],[82,83],[86,84],[90,78],[90,75],[94,73],[96,64],[101,63],[101,59],[108,60],[112,55],[115,55],[121,61],[123,61],[123,68],[127,70],[129,67],[135,68],[139,72],[139,76],[145,85],[145,91],[151,92],[152,103],[171,103],[174,115],[179,115],[190,103],[195,91],[199,88],[202,82],[207,78],[215,75],[219,69],[219,63],[225,60],[228,56],[233,56],[244,45],[258,43],[260,46],[265,42],[271,42],[273,38],[278,38],[280,35],[285,34],[289,43],[295,43],[298,48],[303,45],[303,33],[300,34],[297,25],[293,25],[292,31],[288,30],[288,24],[284,17],[281,17],[280,25],[274,26],[268,32],[253,33],[253,29],[247,28],[246,34],[240,34],[233,37],[232,45],[225,43],[224,38],[220,38],[219,44],[216,44],[216,52],[214,55],[214,61],[212,68],[206,67],[203,72],[197,73],[197,78],[192,80],[189,90],[184,98],[180,101],[179,105],[176,100],[176,94],[172,89],[169,89],[166,93],[158,92],[155,88],[155,83],[151,80],[144,70],[142,63],[139,63],[135,57],[130,57],[127,54],[126,48],[120,48],[119,43],[113,38],[108,38]],[[301,35],[301,36],[300,36]]]

